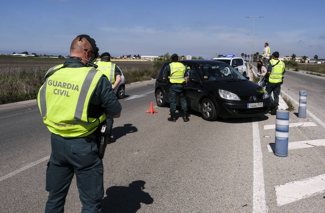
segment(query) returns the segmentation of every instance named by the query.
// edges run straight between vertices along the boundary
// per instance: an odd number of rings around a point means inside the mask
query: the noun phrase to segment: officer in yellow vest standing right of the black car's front
[[[285,73],[285,64],[283,61],[279,60],[279,52],[276,51],[272,53],[273,59],[270,60],[270,63],[267,68],[266,77],[268,77],[268,82],[266,84],[266,91],[269,94],[269,97],[272,101],[271,103],[271,115],[275,115],[277,109],[279,108],[279,95],[281,91],[281,84],[283,75]],[[271,93],[273,92],[272,99]]]

